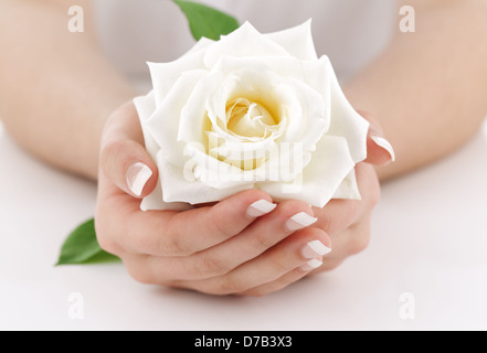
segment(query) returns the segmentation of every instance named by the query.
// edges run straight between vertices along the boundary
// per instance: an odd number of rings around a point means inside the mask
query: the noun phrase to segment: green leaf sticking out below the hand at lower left
[[[57,265],[99,264],[119,261],[120,259],[103,250],[95,233],[95,220],[80,225],[64,242]]]

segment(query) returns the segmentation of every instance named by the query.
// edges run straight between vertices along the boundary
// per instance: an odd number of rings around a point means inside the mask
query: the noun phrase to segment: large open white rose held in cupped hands
[[[328,57],[317,56],[310,21],[272,34],[245,23],[149,67],[153,89],[135,105],[159,185],[142,210],[181,210],[248,189],[318,207],[360,199],[354,165],[367,157],[369,124]]]

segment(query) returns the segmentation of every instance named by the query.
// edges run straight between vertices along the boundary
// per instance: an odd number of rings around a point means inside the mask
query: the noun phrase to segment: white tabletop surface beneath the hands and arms
[[[95,185],[33,160],[1,130],[0,329],[487,329],[487,126],[384,185],[366,252],[263,298],[140,285],[123,265],[54,267],[65,236],[93,215]],[[83,298],[81,320],[72,293]],[[401,318],[403,293],[414,298],[412,320]]]

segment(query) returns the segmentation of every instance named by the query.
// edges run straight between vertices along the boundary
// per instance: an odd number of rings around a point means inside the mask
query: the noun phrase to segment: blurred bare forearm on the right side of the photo
[[[396,162],[382,180],[458,148],[487,115],[485,1],[409,1],[416,32],[398,33],[388,51],[347,86],[352,105],[375,116]]]

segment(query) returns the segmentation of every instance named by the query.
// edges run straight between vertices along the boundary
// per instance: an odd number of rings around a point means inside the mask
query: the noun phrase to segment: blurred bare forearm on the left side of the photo
[[[84,33],[67,29],[72,4]],[[95,179],[105,120],[136,93],[98,51],[91,17],[85,0],[0,2],[0,116],[28,151]]]

